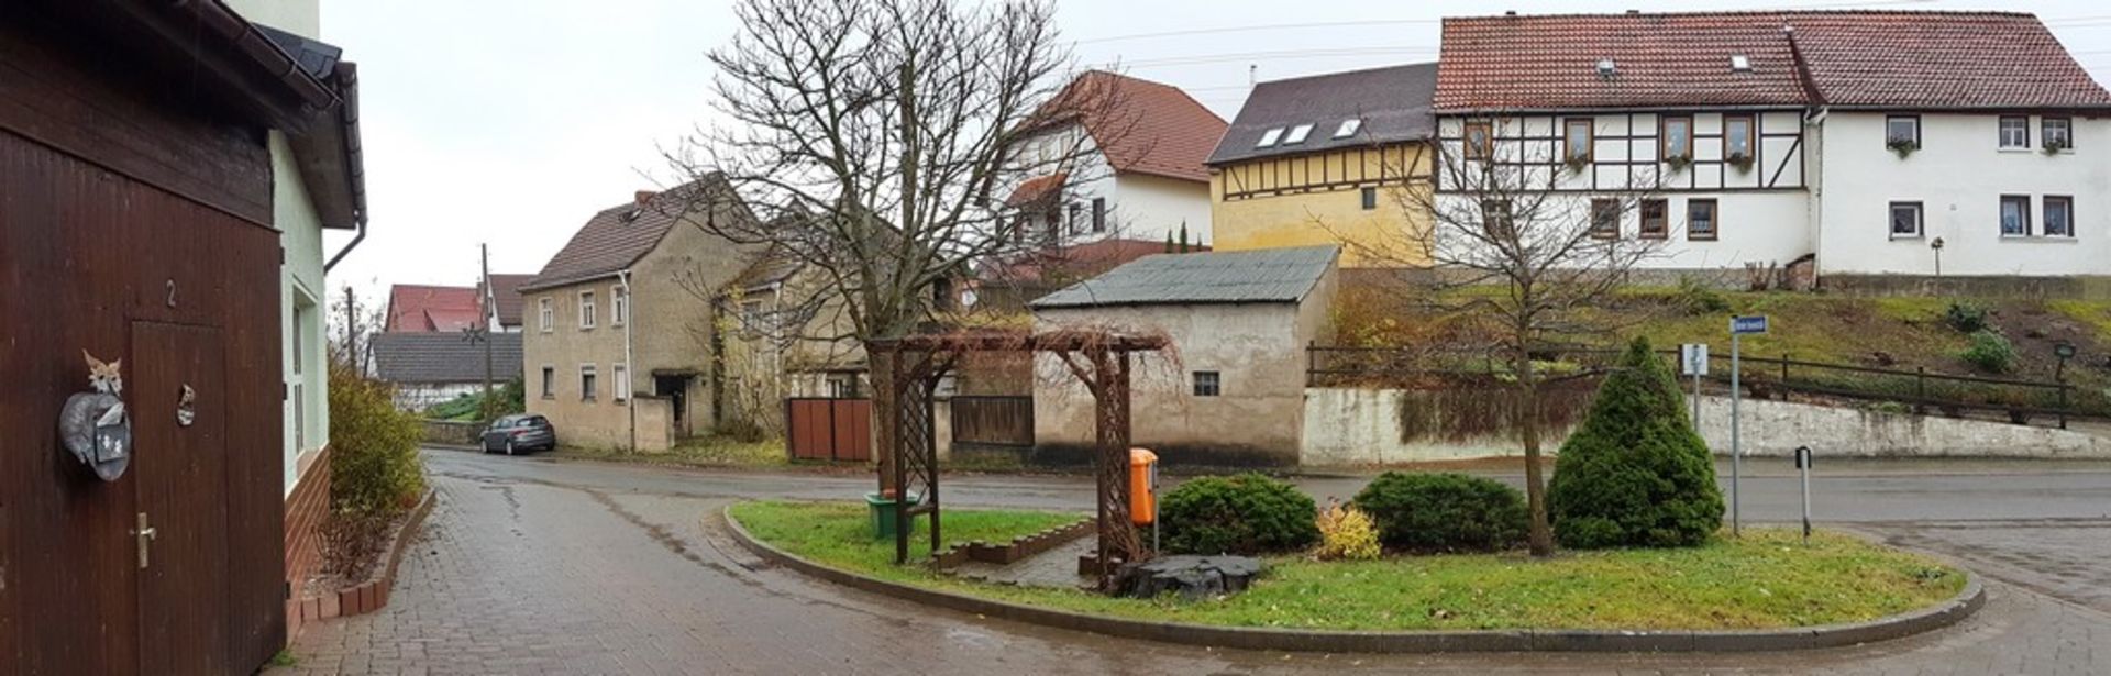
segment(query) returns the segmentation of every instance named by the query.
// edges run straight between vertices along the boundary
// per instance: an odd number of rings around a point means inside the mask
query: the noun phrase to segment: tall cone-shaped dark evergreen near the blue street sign
[[[1547,505],[1564,547],[1691,547],[1723,526],[1708,444],[1647,338],[1628,346],[1562,444]]]

